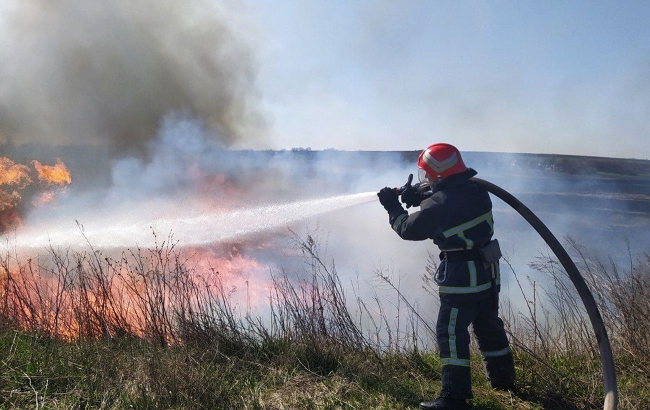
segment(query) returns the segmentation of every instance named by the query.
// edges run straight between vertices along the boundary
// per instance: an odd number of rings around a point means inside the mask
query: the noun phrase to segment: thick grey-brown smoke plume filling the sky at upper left
[[[169,112],[200,118],[226,145],[259,134],[252,47],[224,6],[25,0],[5,8],[0,141],[142,152]]]

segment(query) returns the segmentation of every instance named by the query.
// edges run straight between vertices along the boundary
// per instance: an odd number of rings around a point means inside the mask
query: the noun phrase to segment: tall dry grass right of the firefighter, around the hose
[[[619,408],[650,408],[650,255],[634,257],[628,244],[627,264],[621,267],[611,256],[606,261],[588,257],[573,238],[567,238],[567,245],[608,330]],[[508,266],[526,305],[523,313],[502,305],[519,368],[528,381],[523,392],[532,396],[541,392],[558,402],[569,398],[578,408],[598,408],[603,397],[598,346],[569,277],[548,250],[530,263],[547,278],[540,283],[528,277],[532,292],[523,290],[519,276]]]

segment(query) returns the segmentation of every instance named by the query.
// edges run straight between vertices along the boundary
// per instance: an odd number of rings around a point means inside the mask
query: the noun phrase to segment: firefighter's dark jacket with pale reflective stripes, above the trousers
[[[433,239],[441,251],[480,249],[493,234],[492,201],[480,186],[469,181],[476,171],[450,175],[433,188],[420,204],[420,211],[408,214],[402,207],[389,212],[393,230],[406,240]],[[499,267],[497,285],[499,284]],[[484,294],[491,288],[491,269],[481,261],[450,262],[445,280],[439,283],[443,294]]]

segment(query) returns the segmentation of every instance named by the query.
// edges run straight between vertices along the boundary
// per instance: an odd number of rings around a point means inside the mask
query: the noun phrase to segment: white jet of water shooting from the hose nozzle
[[[187,217],[159,217],[150,220],[127,221],[120,215],[94,217],[90,222],[80,218],[79,226],[72,220],[49,226],[36,225],[24,229],[10,240],[18,249],[47,248],[49,244],[62,248],[140,248],[155,247],[157,235],[173,234],[173,240],[183,246],[201,246],[239,240],[265,231],[308,220],[326,212],[337,211],[377,199],[375,192],[305,199],[289,203],[272,203],[228,211],[214,211]]]

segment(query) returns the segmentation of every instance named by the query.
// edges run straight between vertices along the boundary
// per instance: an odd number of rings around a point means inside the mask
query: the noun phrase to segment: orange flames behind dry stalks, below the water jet
[[[53,266],[0,258],[0,317],[65,340],[131,335],[183,343],[201,329],[203,313],[229,309],[226,300],[247,311],[265,300],[270,284],[255,272],[268,267],[239,248],[167,245],[115,258],[51,253],[61,262]]]

